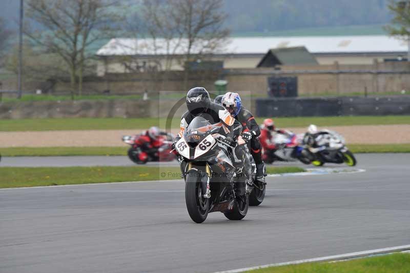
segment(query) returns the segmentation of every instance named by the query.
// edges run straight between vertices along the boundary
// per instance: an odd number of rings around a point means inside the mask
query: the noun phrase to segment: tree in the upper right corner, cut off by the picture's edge
[[[392,24],[386,26],[385,29],[390,35],[407,41],[407,61],[410,62],[410,1],[391,0],[387,7],[392,11],[394,17]]]

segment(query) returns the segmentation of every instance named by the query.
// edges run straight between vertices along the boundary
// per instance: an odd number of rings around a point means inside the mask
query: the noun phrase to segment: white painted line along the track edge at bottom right
[[[297,261],[292,261],[292,262],[265,264],[265,265],[244,267],[244,268],[238,268],[238,269],[232,269],[232,270],[226,270],[226,271],[217,271],[214,273],[237,273],[237,272],[267,268],[267,267],[272,267],[272,266],[311,263],[311,262],[331,262],[331,261],[338,261],[338,260],[344,260],[344,259],[366,257],[366,256],[371,256],[371,255],[377,255],[377,254],[399,252],[399,251],[404,251],[404,250],[409,250],[409,249],[410,249],[410,245],[401,245],[401,246],[385,247],[385,248],[378,248],[378,249],[365,250],[365,251],[359,251],[359,252],[351,252],[351,253],[345,253],[341,255],[325,256],[325,257],[305,259],[305,260],[297,260]]]

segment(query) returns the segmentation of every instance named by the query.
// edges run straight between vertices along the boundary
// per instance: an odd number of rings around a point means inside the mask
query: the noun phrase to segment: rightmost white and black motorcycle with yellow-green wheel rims
[[[306,142],[306,140],[304,140]],[[325,163],[346,163],[355,166],[357,161],[353,153],[347,149],[343,136],[335,131],[322,130],[315,139],[316,147],[306,145],[304,151],[315,166],[323,166]]]

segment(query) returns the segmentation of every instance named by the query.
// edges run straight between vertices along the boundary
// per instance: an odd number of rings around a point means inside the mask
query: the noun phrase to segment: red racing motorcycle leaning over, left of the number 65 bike
[[[163,133],[159,136],[158,141],[162,142],[159,148],[146,147],[140,134],[124,135],[122,141],[131,145],[127,154],[130,160],[137,164],[146,164],[149,161],[173,161],[176,157],[176,153],[170,153],[174,142],[174,136],[171,133]]]

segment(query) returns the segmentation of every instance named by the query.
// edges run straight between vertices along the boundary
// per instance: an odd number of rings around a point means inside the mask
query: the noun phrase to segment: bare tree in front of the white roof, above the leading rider
[[[152,52],[165,60],[163,70],[174,63],[185,68],[184,88],[187,88],[187,64],[223,48],[229,30],[223,23],[220,0],[145,0],[142,16],[145,31],[153,41]],[[179,56],[179,58],[177,57]]]

